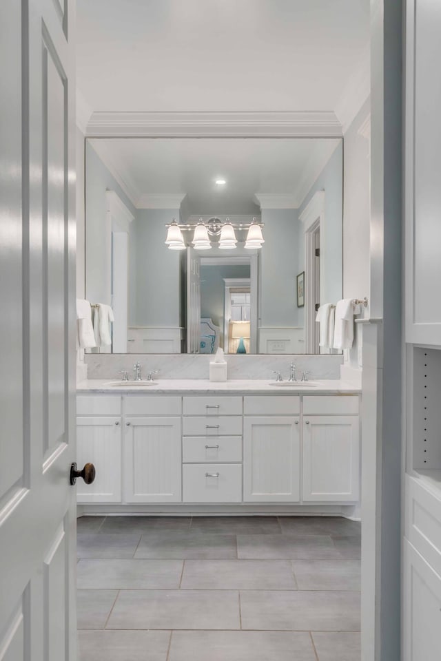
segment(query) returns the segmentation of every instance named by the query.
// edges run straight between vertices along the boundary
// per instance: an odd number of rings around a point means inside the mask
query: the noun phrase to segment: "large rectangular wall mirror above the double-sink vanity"
[[[85,297],[112,306],[92,353],[338,353],[339,138],[88,138]]]

